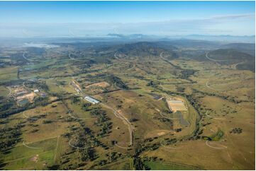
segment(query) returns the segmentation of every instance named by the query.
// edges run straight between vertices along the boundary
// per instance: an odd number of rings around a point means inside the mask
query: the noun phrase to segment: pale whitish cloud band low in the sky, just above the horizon
[[[0,23],[0,37],[86,36],[118,34],[148,35],[254,35],[255,14],[243,13],[190,20],[142,23]]]

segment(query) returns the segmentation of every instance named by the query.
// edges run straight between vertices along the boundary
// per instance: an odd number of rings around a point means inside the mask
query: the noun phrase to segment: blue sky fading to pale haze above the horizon
[[[255,35],[255,1],[0,1],[0,36]]]

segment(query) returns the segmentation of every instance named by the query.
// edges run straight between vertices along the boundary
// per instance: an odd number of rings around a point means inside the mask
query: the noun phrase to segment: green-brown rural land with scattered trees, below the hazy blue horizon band
[[[102,44],[1,48],[2,170],[255,168],[251,53]]]

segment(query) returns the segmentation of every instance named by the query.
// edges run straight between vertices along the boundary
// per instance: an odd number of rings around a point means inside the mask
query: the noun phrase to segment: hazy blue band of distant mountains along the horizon
[[[157,36],[157,35],[123,35],[109,33],[104,36],[87,37],[0,37],[0,47],[23,46],[26,43],[93,43],[99,45],[100,42],[110,44],[133,43],[133,42],[163,42],[163,46],[175,47],[195,47],[206,49],[237,49],[254,55],[255,35],[251,36],[233,36],[233,35],[184,35],[184,36]],[[239,45],[243,43],[245,45]],[[225,46],[225,47],[222,47]],[[250,49],[248,49],[250,47]]]

